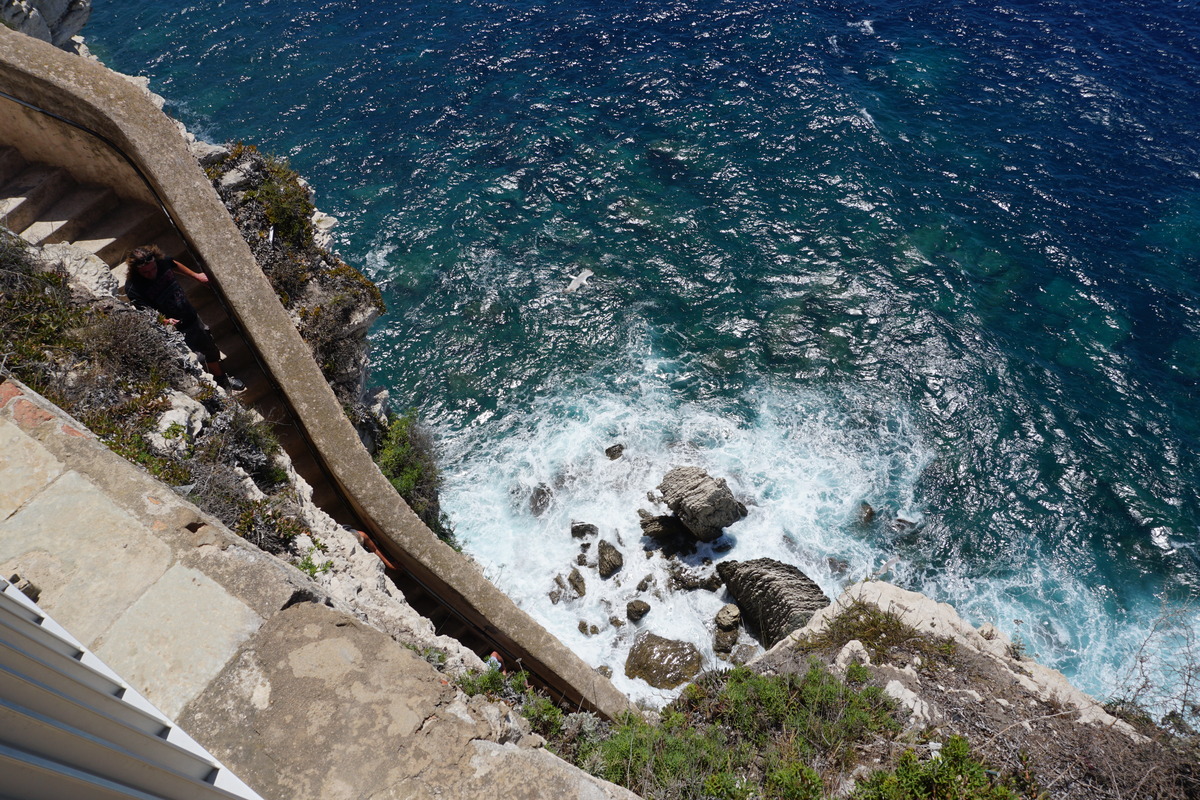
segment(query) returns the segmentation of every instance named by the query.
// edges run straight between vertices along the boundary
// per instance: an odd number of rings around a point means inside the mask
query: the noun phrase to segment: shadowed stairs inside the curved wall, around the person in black
[[[103,186],[79,184],[62,169],[28,163],[13,148],[0,148],[0,225],[30,245],[68,242],[94,253],[112,267],[122,285],[124,259],[139,245],[157,245],[169,258],[199,269],[161,209],[120,198]],[[238,399],[271,422],[296,471],[313,487],[317,505],[335,519],[352,523],[341,493],[318,465],[290,410],[217,294],[182,276],[180,284],[212,330],[224,355],[224,369],[246,383]]]

